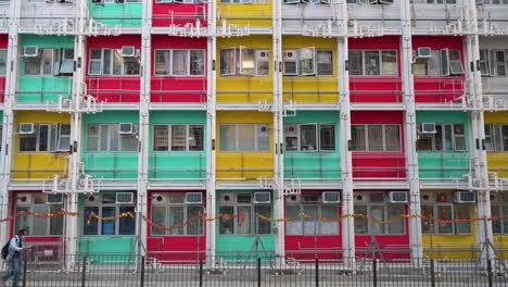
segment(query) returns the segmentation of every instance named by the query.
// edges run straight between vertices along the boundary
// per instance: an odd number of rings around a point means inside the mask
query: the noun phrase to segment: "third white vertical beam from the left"
[[[148,180],[150,157],[150,90],[151,90],[151,51],[152,51],[152,1],[143,2],[143,17],[141,22],[141,92],[139,102],[139,159],[138,159],[138,252],[147,251],[148,227],[142,216],[148,216]]]

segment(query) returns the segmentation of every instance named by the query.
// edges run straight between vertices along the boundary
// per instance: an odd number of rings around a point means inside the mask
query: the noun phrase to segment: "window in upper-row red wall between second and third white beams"
[[[136,49],[135,54],[139,54],[139,49]],[[88,74],[90,76],[137,76],[140,74],[139,58],[137,55],[123,57],[122,49],[91,49]]]

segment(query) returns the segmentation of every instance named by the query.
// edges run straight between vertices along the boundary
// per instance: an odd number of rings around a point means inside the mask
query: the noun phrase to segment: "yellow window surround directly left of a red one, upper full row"
[[[338,103],[339,86],[336,65],[336,40],[285,36],[282,39],[282,50],[297,50],[314,47],[316,50],[333,51],[332,76],[284,76],[282,79],[283,101],[295,103]]]

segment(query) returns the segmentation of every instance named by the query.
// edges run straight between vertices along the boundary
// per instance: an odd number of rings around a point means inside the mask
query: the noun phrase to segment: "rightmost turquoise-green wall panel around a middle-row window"
[[[418,152],[422,178],[459,178],[470,170],[469,116],[463,112],[417,112],[417,123],[463,124],[467,152]]]

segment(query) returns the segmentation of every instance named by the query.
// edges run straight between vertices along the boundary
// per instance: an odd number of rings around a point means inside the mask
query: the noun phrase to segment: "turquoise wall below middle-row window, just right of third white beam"
[[[152,189],[195,189],[206,185],[206,154],[203,152],[154,152],[150,155],[149,166]]]

